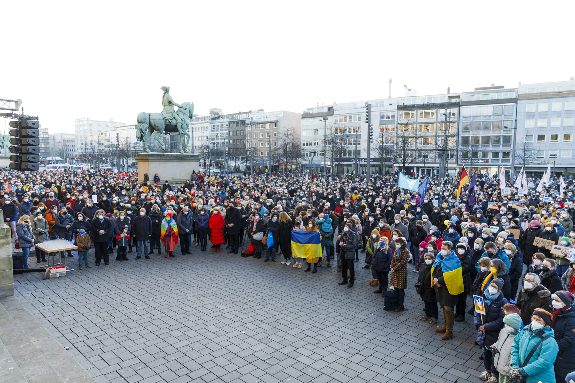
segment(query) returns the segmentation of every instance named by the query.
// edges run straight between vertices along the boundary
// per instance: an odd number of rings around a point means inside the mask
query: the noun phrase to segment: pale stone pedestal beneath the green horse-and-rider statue
[[[200,169],[199,154],[181,153],[139,153],[136,154],[138,164],[138,181],[144,181],[144,173],[148,173],[150,182],[158,173],[162,183],[181,183],[191,180],[191,173]]]

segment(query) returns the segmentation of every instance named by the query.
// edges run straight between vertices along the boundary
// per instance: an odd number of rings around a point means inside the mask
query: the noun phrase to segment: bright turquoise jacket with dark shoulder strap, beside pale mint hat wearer
[[[526,366],[519,368],[519,362],[525,363],[527,354],[541,340],[541,337],[536,334],[540,334],[543,337],[551,335],[551,338],[537,347]],[[519,373],[525,377],[525,383],[538,383],[539,381],[555,383],[553,363],[555,363],[559,347],[557,342],[555,342],[554,336],[553,328],[549,326],[545,326],[538,331],[531,331],[531,324],[523,327],[523,330],[519,331],[519,334],[515,336],[513,346],[511,346],[509,375],[512,374],[513,369],[518,369]]]

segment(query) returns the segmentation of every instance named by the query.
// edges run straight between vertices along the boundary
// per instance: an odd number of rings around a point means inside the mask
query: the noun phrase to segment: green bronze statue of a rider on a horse
[[[160,143],[162,151],[166,152],[166,145],[160,141],[160,134],[178,132],[180,136],[179,152],[184,153],[184,147],[190,142],[187,128],[190,126],[190,118],[194,117],[194,103],[185,102],[182,105],[176,103],[170,95],[170,87],[160,88],[162,95],[162,113],[140,113],[137,118],[136,139],[144,143],[145,151],[150,153],[148,138],[152,137]],[[174,111],[174,106],[178,109]],[[186,136],[186,144],[182,147],[183,137]]]

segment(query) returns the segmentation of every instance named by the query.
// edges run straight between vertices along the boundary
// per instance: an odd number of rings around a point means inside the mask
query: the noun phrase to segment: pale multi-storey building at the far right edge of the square
[[[527,172],[575,171],[573,129],[575,78],[568,81],[520,84],[517,102],[515,167]]]

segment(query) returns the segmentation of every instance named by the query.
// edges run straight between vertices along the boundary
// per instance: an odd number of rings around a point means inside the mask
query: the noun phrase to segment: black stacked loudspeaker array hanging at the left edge
[[[40,123],[32,119],[10,121],[10,169],[37,171],[40,167]]]

